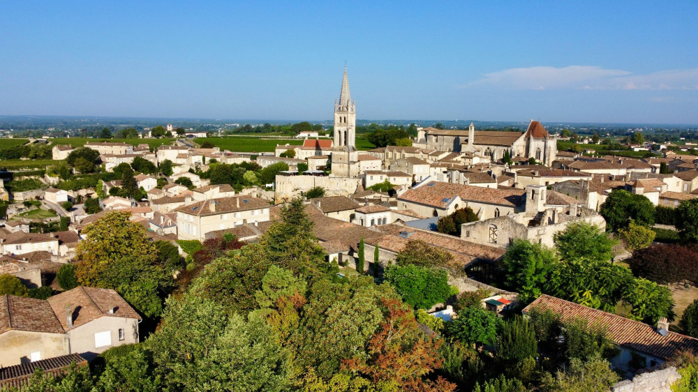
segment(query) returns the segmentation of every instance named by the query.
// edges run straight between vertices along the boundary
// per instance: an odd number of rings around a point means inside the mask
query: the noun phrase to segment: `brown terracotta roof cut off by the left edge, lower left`
[[[46,333],[64,333],[49,303],[22,296],[0,296],[0,333],[15,329]]]

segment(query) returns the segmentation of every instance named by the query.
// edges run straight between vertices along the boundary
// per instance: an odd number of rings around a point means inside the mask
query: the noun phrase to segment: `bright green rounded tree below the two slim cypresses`
[[[414,264],[391,265],[385,269],[383,278],[395,288],[405,303],[417,309],[429,309],[454,294],[443,269]]]

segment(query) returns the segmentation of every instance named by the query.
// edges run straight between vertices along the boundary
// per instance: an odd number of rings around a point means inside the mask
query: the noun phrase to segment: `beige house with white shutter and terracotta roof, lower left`
[[[139,341],[140,315],[112,289],[78,286],[46,301],[68,336],[70,353],[89,360]]]

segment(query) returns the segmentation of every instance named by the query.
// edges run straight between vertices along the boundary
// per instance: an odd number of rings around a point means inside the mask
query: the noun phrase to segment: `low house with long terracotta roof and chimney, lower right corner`
[[[669,331],[669,323],[664,317],[655,328],[546,294],[526,306],[523,314],[527,315],[534,309],[551,310],[560,315],[563,322],[581,319],[590,326],[598,326],[607,331],[609,338],[620,350],[620,353],[611,359],[611,364],[621,371],[632,371],[631,361],[637,362],[641,359],[644,362],[642,368],[651,368],[665,363],[677,351],[698,349],[698,339]]]

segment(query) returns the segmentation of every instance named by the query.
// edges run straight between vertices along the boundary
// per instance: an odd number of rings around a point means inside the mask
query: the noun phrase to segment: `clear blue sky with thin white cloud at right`
[[[513,4],[510,4],[513,3]],[[3,1],[0,114],[698,123],[698,1]]]

